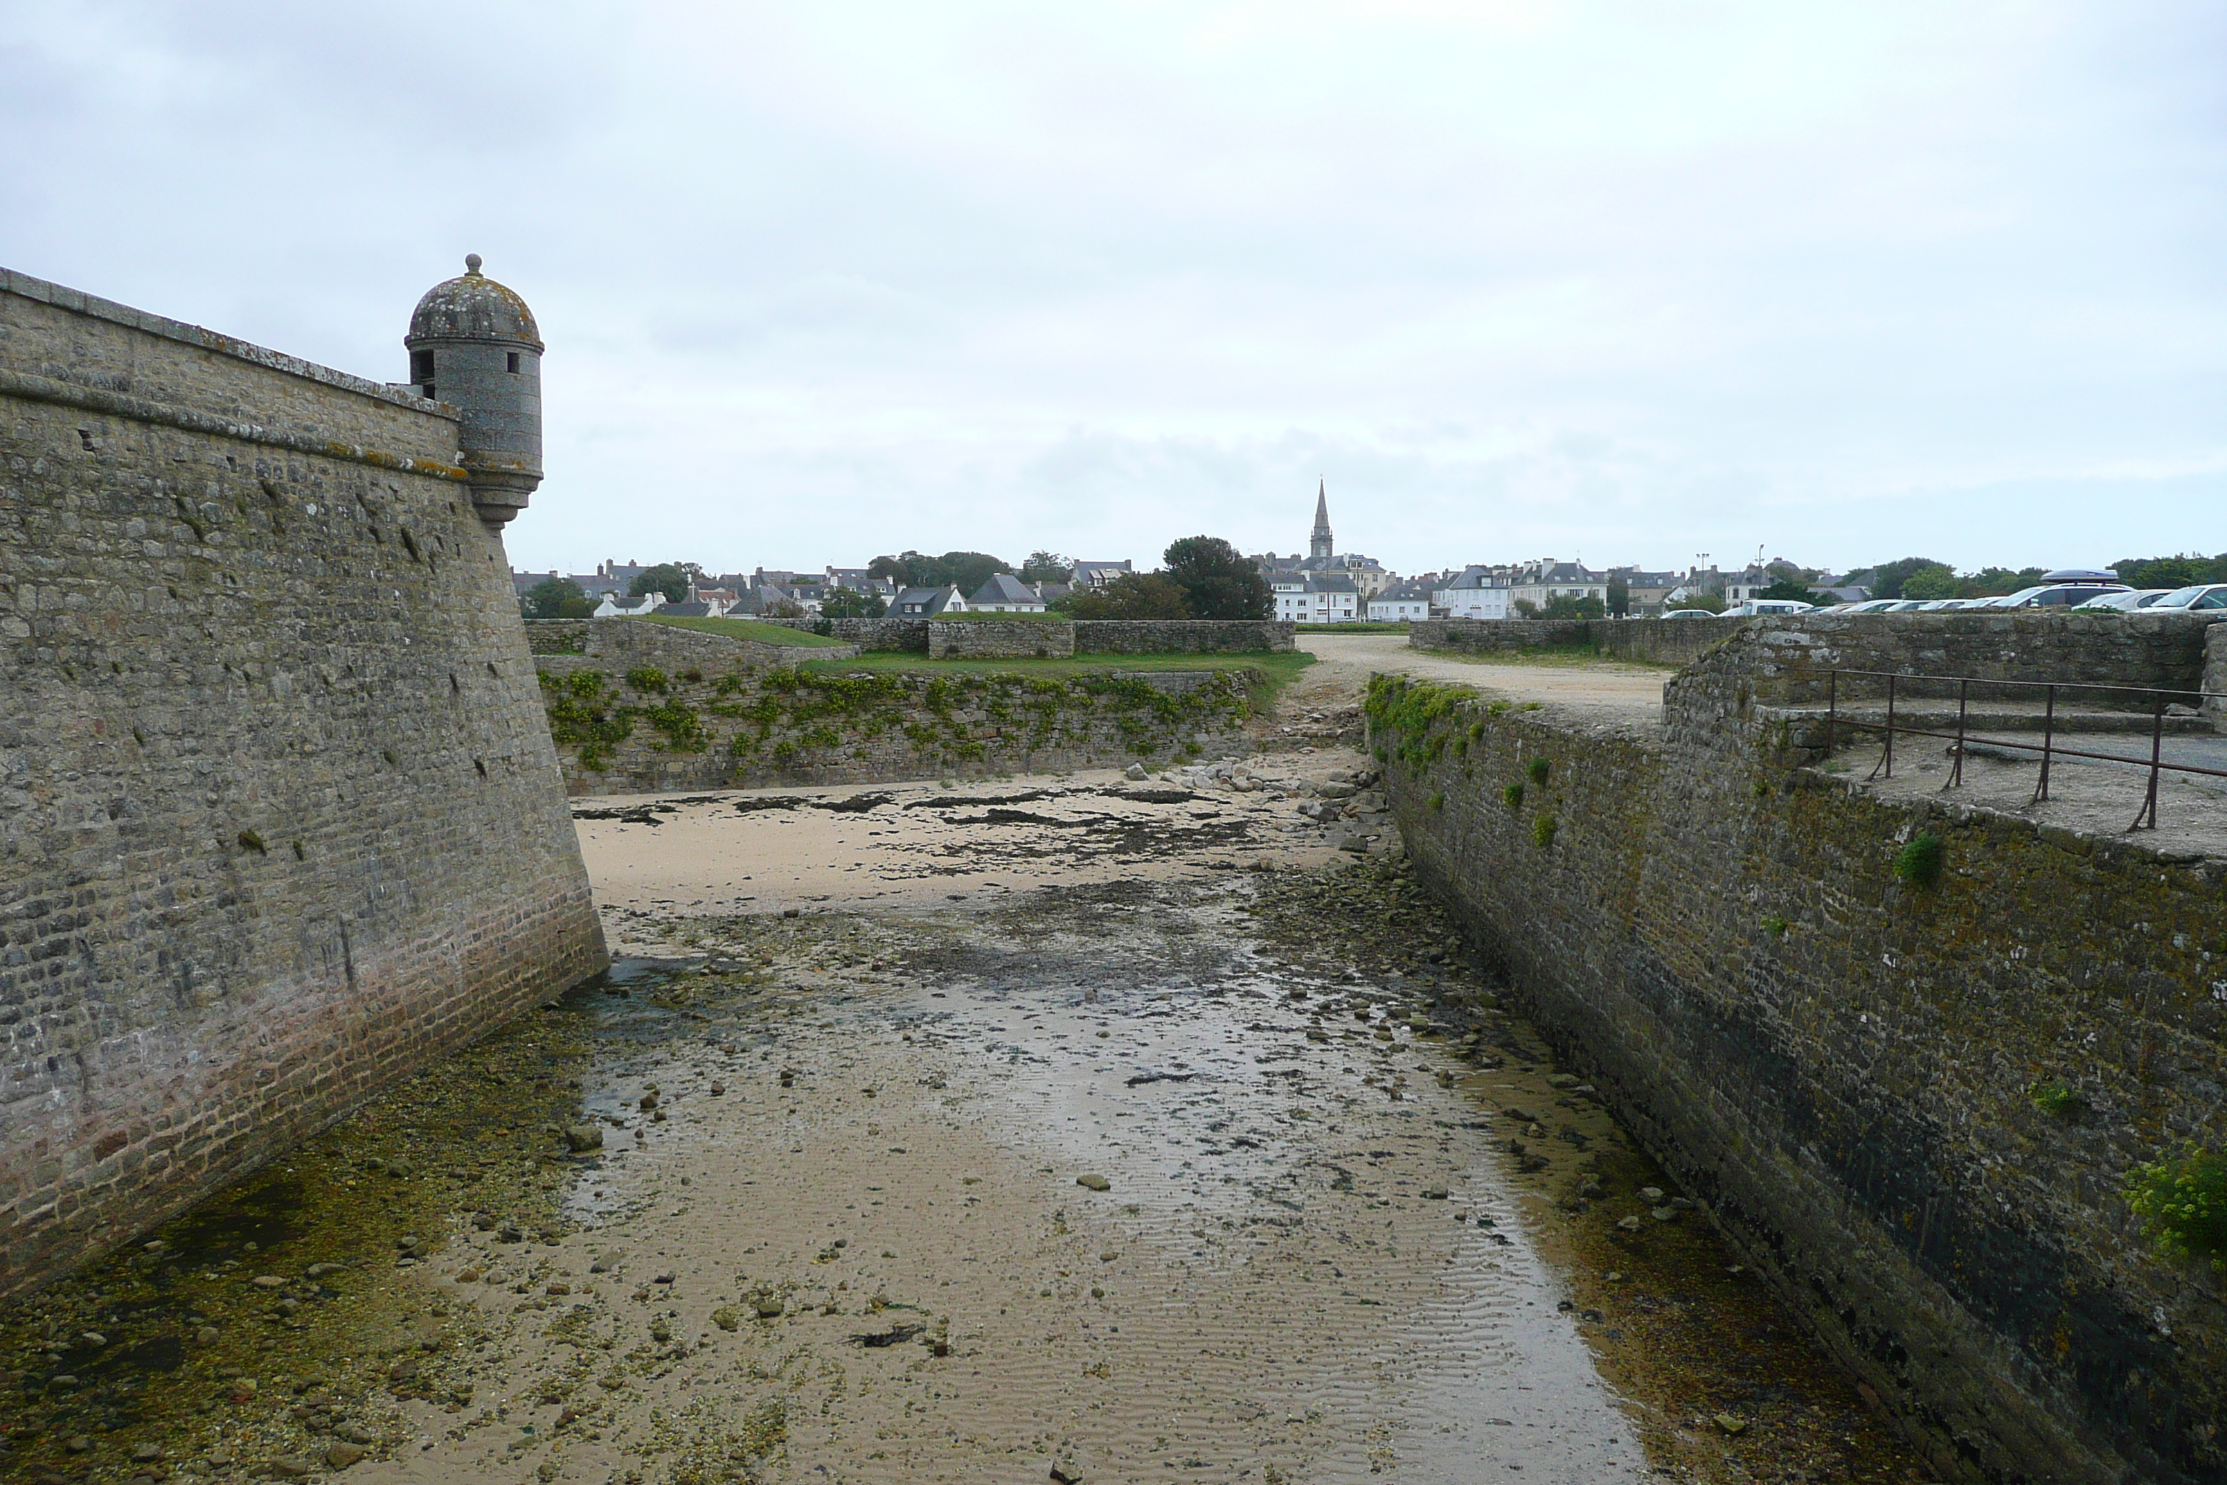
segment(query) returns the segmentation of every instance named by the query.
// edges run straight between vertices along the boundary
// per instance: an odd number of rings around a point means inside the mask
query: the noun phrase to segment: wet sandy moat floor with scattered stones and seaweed
[[[1254,766],[577,801],[619,968],[0,1314],[0,1467],[1924,1481]]]

